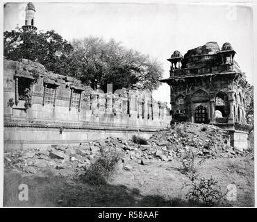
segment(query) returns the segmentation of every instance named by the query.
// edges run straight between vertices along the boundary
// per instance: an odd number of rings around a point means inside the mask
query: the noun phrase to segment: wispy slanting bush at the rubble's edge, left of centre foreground
[[[112,176],[120,158],[121,156],[115,148],[102,149],[97,160],[90,165],[89,169],[86,169],[81,179],[83,182],[91,184],[105,184],[106,180]]]

